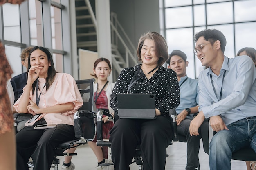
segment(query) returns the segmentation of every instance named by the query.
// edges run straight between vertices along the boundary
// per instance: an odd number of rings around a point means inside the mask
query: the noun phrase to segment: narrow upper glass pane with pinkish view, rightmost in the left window
[[[52,48],[63,50],[62,48],[62,27],[61,27],[61,9],[51,7],[52,22]]]

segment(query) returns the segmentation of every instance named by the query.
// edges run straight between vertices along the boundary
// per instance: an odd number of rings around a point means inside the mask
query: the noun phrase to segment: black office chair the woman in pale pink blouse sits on
[[[67,153],[65,150],[93,141],[96,135],[96,122],[93,114],[89,114],[94,108],[94,82],[95,79],[76,80],[79,92],[83,98],[83,105],[74,114],[74,129],[77,140],[67,141],[58,145],[55,149],[55,157],[52,162],[54,170],[58,170],[60,164],[57,156],[73,156],[77,153]],[[90,112],[91,113],[91,112]]]

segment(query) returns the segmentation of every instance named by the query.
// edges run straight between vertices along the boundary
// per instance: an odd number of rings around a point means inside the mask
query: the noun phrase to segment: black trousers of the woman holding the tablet
[[[118,119],[110,131],[115,170],[129,170],[140,144],[144,170],[164,170],[166,148],[172,137],[170,117],[154,120]]]

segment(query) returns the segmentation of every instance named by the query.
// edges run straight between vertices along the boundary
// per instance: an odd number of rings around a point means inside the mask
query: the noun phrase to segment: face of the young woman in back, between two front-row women
[[[106,61],[101,61],[95,68],[93,68],[93,72],[97,76],[98,80],[106,81],[111,70]]]

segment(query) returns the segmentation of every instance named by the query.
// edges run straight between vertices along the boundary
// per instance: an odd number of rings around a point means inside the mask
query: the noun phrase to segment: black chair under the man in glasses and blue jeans
[[[206,119],[201,125],[201,135],[203,140],[204,152],[209,155],[209,141],[216,132],[213,131],[209,124],[209,119]],[[232,154],[232,159],[238,161],[256,161],[256,153],[252,148],[243,148]]]

